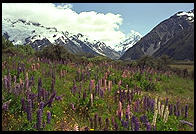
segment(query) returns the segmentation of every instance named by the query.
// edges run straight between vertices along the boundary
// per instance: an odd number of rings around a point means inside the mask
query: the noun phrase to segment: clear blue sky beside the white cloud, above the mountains
[[[161,21],[178,11],[189,11],[194,3],[70,3],[77,13],[96,11],[98,13],[120,14],[123,23],[120,30],[128,34],[135,30],[143,36]]]

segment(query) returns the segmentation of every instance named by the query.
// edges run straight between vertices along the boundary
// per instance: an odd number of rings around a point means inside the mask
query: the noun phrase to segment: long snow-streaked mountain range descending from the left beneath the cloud
[[[46,45],[64,45],[73,53],[85,52],[118,59],[120,54],[104,42],[92,40],[81,33],[59,31],[55,27],[45,27],[37,22],[24,19],[2,18],[2,35],[13,44],[30,44],[35,49]]]

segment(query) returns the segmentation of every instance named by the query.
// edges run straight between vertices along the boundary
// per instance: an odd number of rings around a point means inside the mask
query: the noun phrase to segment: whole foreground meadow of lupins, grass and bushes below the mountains
[[[4,131],[193,130],[194,71],[167,57],[122,62],[2,44]]]

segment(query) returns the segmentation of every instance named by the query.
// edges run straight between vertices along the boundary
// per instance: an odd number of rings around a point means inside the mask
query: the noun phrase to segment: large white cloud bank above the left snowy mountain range
[[[125,34],[119,30],[123,21],[120,14],[95,11],[76,13],[71,4],[3,3],[2,16],[23,18],[61,31],[82,33],[111,47],[125,39]]]

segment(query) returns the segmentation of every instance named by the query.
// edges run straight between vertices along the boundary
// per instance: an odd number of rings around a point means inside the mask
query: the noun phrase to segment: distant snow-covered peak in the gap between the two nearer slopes
[[[137,43],[142,38],[142,35],[134,30],[131,30],[131,33],[128,37],[115,46],[115,50],[123,55],[130,47]]]

